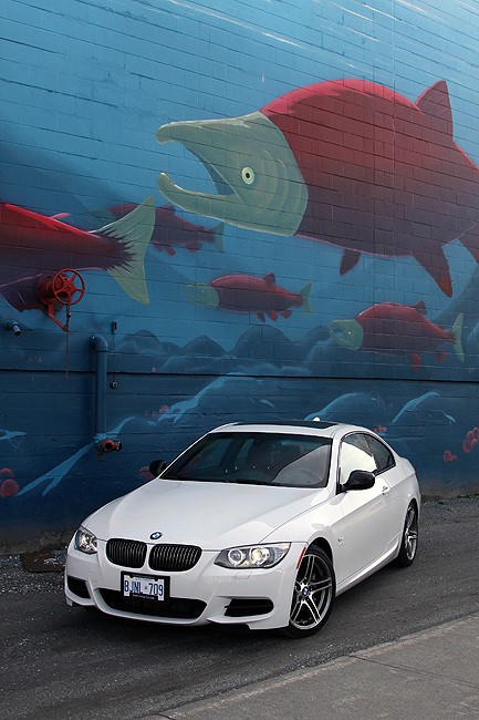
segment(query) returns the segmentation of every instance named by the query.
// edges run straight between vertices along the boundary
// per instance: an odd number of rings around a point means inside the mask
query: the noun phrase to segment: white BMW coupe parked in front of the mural
[[[413,563],[412,464],[364,428],[217,428],[90,515],[67,552],[69,605],[170,625],[316,632],[344,593]]]

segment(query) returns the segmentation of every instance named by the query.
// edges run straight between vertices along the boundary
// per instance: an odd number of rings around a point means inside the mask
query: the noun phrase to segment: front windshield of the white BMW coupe
[[[281,433],[211,433],[178,457],[164,480],[325,487],[331,440]]]

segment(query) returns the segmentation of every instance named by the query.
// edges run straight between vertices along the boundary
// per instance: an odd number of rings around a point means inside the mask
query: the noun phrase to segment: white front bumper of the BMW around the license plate
[[[65,566],[69,605],[165,625],[241,624],[251,629],[288,625],[296,565],[304,548],[302,543],[292,543],[288,555],[270,569],[220,567],[215,565],[219,551],[204,551],[191,569],[163,573],[152,570],[146,560],[135,569],[114,565],[106,557],[105,546],[104,541],[98,541],[98,552],[86,555],[74,547],[73,541],[70,544]],[[170,599],[164,605],[162,600],[125,599],[122,573],[166,577]]]

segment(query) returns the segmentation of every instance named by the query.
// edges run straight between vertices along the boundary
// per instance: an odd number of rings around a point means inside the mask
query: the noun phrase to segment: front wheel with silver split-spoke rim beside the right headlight
[[[336,580],[324,551],[310,546],[303,555],[294,583],[290,623],[284,635],[293,638],[313,635],[323,627],[333,607]]]

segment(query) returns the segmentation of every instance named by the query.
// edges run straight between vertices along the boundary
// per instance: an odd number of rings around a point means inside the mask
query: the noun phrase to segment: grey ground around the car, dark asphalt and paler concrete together
[[[0,720],[479,720],[479,496],[423,504],[419,553],[315,636],[70,608],[65,549],[0,557]]]

